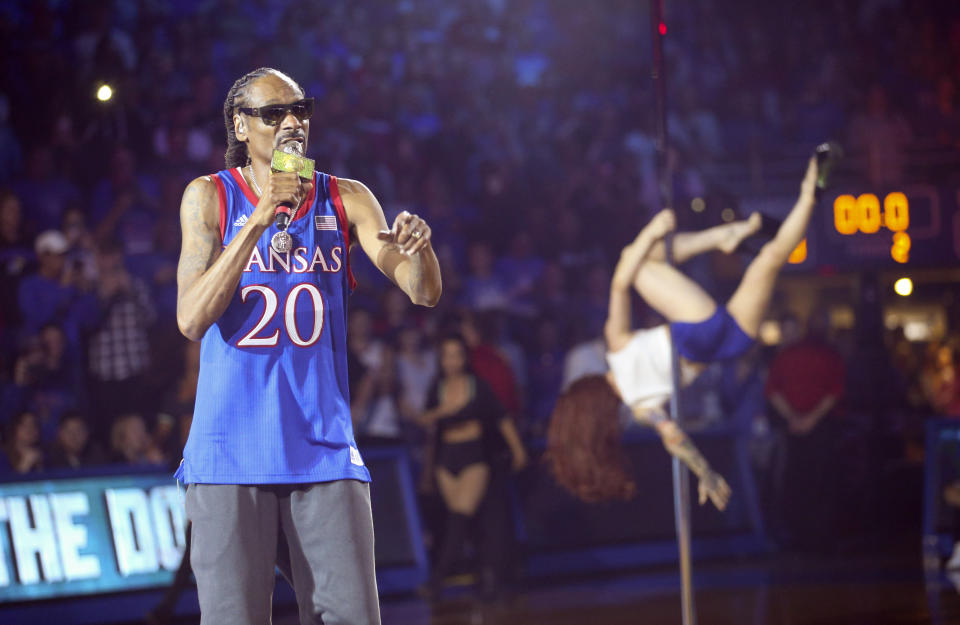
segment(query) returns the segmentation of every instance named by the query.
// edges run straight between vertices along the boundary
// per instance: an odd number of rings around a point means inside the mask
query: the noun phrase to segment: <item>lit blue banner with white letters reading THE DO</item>
[[[0,602],[169,584],[185,527],[169,472],[0,484]]]

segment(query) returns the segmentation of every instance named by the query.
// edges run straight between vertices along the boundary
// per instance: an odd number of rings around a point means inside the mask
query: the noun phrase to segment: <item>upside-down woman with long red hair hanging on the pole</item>
[[[571,384],[557,400],[547,432],[545,458],[561,486],[588,502],[633,496],[636,485],[620,448],[618,413],[624,403],[636,421],[655,428],[667,451],[696,474],[700,503],[709,498],[718,509],[726,507],[730,487],[664,411],[673,391],[671,341],[680,356],[683,384],[692,382],[708,363],[736,358],[750,349],[777,275],[803,240],[816,201],[816,181],[814,157],[797,203],[750,262],[725,306],[718,306],[668,263],[668,254],[681,264],[711,250],[732,252],[760,229],[758,213],[699,232],[673,234],[676,217],[663,210],[623,249],[610,284],[604,326],[610,370]],[[630,327],[631,287],[666,324],[643,330]]]

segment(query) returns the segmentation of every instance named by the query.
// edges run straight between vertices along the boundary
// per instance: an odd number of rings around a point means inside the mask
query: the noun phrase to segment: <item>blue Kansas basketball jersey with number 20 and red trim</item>
[[[213,176],[226,246],[257,197],[239,169]],[[353,438],[347,386],[349,230],[337,179],[315,173],[290,222],[294,249],[253,250],[230,305],[200,346],[187,484],[370,480]]]

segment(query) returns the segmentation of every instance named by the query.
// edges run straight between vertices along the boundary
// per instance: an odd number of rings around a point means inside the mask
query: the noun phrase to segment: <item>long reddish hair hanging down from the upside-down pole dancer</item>
[[[591,375],[571,384],[553,409],[544,461],[557,483],[583,501],[636,493],[620,443],[620,404],[606,378]]]

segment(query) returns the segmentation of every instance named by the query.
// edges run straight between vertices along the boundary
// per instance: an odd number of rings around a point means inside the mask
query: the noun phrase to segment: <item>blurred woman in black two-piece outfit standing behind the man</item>
[[[469,535],[470,524],[490,484],[496,452],[504,443],[515,471],[527,463],[520,436],[503,406],[487,384],[477,378],[467,361],[468,349],[459,335],[445,337],[439,345],[440,373],[427,398],[421,422],[431,430],[434,477],[447,509],[443,545],[433,569],[433,590],[450,571]],[[502,537],[487,551],[499,550]],[[496,558],[495,554],[491,554]],[[496,558],[501,560],[501,558]]]

